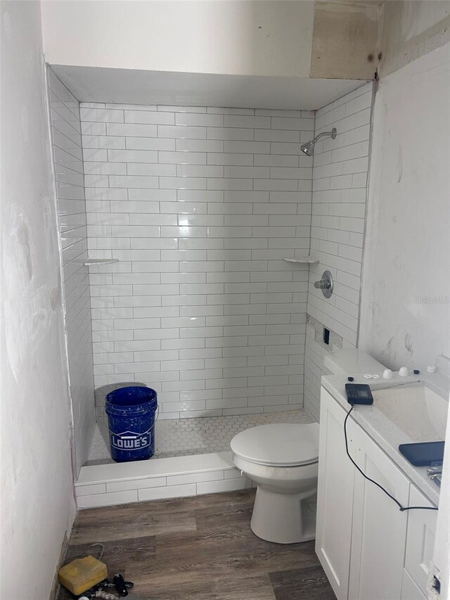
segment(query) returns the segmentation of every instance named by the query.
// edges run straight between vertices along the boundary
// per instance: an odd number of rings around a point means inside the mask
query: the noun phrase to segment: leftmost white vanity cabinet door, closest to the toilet
[[[347,600],[354,483],[344,419],[345,410],[321,388],[316,553],[338,600]]]

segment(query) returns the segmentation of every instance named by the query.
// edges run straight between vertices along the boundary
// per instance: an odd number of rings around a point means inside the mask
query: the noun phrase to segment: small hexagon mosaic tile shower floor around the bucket
[[[212,416],[196,419],[161,419],[155,425],[155,458],[210,454],[230,449],[236,433],[266,423],[310,423],[302,410],[265,414]],[[108,421],[98,419],[87,465],[113,462],[109,452]]]

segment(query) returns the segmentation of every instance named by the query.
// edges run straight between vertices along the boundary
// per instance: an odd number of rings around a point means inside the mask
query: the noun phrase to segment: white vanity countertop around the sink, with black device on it
[[[443,397],[447,402],[449,400],[449,378],[435,373],[425,374],[425,376],[400,377],[394,375],[394,378],[386,380],[366,379],[362,375],[354,376],[353,383],[368,383],[372,392],[384,388],[394,388],[399,384],[408,384],[420,381]],[[347,402],[345,393],[345,384],[348,383],[347,377],[342,375],[330,375],[322,377],[323,387],[342,405],[345,410],[349,410],[350,405]],[[405,475],[425,494],[436,506],[439,504],[439,487],[428,477],[427,467],[413,466],[399,452],[399,444],[407,444],[416,440],[411,440],[404,431],[397,427],[385,414],[377,408],[375,397],[374,404],[364,406],[355,405],[350,418],[363,428],[368,435],[380,446],[392,461],[405,473]],[[407,416],[405,416],[407,418]]]

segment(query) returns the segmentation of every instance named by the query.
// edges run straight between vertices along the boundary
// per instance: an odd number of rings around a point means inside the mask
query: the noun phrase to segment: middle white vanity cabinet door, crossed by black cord
[[[409,480],[351,419],[347,432],[356,464],[406,506]],[[407,521],[406,512],[356,471],[349,599],[401,598]]]

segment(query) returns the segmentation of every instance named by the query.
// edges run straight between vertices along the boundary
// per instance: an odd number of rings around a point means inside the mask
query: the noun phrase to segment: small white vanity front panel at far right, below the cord
[[[434,506],[430,500],[411,485],[410,506]],[[408,511],[405,568],[420,591],[427,594],[430,563],[435,547],[437,511]]]

